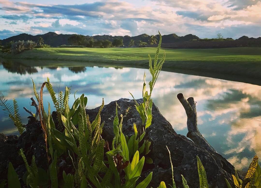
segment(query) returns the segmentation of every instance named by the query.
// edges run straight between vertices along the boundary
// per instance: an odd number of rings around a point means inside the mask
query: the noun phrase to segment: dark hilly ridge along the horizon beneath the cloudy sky
[[[48,32],[42,35],[30,35],[22,33],[20,35],[11,36],[7,39],[0,40],[0,44],[5,45],[11,41],[19,40],[32,40],[37,42],[39,37],[44,39],[44,43],[51,47],[57,47],[61,45],[70,45],[68,38],[74,34],[57,34],[54,32]],[[130,40],[134,40],[136,43],[139,41],[148,42],[150,35],[141,34],[138,36],[111,36],[111,35],[96,35],[86,36],[87,38],[93,38],[94,40],[109,40],[123,39],[123,44],[128,46]],[[156,35],[159,41],[159,35]],[[154,45],[155,46],[155,45]],[[196,35],[188,34],[185,36],[177,36],[176,34],[162,35],[162,47],[166,48],[225,48],[225,47],[261,47],[261,37],[249,38],[242,36],[239,39],[233,40],[232,38],[222,39],[200,39]]]

